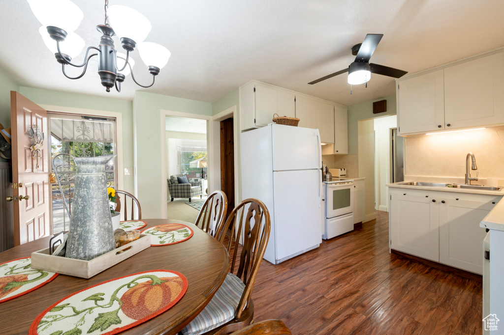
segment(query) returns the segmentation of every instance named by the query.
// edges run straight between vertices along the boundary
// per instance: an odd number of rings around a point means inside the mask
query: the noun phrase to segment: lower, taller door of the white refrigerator
[[[322,242],[321,176],[320,170],[273,173],[277,260]]]

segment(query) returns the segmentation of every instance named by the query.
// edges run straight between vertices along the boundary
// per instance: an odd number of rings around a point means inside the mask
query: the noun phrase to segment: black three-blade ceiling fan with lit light
[[[345,72],[348,72],[348,83],[351,85],[358,85],[367,82],[371,78],[371,73],[388,75],[389,77],[394,78],[402,77],[408,72],[398,70],[393,67],[369,63],[369,58],[371,58],[374,49],[376,49],[376,46],[380,43],[382,37],[383,34],[367,34],[362,43],[356,44],[352,47],[352,55],[356,57],[355,60],[350,63],[348,68],[331,73],[317,80],[313,80],[308,82],[308,84],[313,85],[314,83],[321,82]]]

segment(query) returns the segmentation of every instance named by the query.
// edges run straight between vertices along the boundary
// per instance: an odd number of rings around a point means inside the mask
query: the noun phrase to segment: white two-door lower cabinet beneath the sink
[[[389,188],[391,248],[483,273],[479,222],[502,198],[484,194]]]

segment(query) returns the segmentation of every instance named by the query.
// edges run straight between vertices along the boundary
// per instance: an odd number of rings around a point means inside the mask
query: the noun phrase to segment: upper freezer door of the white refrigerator
[[[273,124],[273,170],[307,170],[322,167],[317,129]]]

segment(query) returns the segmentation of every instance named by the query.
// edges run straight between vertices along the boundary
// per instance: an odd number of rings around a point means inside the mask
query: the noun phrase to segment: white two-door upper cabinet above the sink
[[[399,133],[504,124],[504,50],[397,80]]]

